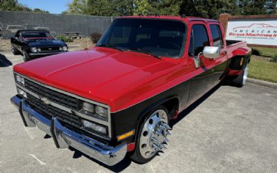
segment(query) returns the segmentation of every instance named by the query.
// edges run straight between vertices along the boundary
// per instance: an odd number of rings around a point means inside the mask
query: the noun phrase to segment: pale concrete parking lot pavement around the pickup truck
[[[10,104],[12,66],[21,56],[0,54],[0,172],[277,172],[277,90],[219,86],[172,122],[168,149],[150,163],[129,159],[107,167],[27,128]]]

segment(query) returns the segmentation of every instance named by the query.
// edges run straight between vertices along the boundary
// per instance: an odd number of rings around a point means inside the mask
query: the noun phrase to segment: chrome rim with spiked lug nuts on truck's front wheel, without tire
[[[162,149],[166,149],[169,140],[166,136],[170,135],[168,130],[168,115],[166,111],[159,109],[154,111],[145,121],[139,140],[139,150],[143,158],[151,158]]]

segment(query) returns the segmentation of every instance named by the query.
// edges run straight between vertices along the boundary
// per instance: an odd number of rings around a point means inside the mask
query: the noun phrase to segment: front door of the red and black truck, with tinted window
[[[190,33],[190,45],[188,48],[188,58],[197,57],[203,52],[205,46],[211,46],[211,40],[208,37],[206,24],[202,21],[192,23]],[[213,87],[213,62],[203,55],[199,56],[200,66],[197,71],[198,75],[193,77],[190,82],[190,93],[188,96],[188,104],[200,98],[206,91]]]

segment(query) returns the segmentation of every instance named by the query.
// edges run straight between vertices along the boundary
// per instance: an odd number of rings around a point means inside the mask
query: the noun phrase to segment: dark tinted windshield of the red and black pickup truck
[[[160,19],[116,19],[97,46],[123,51],[148,51],[163,57],[180,57],[184,51],[186,25]]]

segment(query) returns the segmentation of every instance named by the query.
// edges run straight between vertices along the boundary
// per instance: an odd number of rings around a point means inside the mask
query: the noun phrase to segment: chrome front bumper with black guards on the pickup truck
[[[106,165],[115,165],[123,160],[127,153],[126,143],[111,147],[104,145],[97,140],[78,134],[75,131],[67,129],[60,124],[58,118],[48,120],[42,114],[31,109],[24,99],[15,95],[10,102],[19,109],[20,116],[26,127],[38,127],[46,134],[52,136],[57,148],[68,148],[69,146],[105,163]]]

